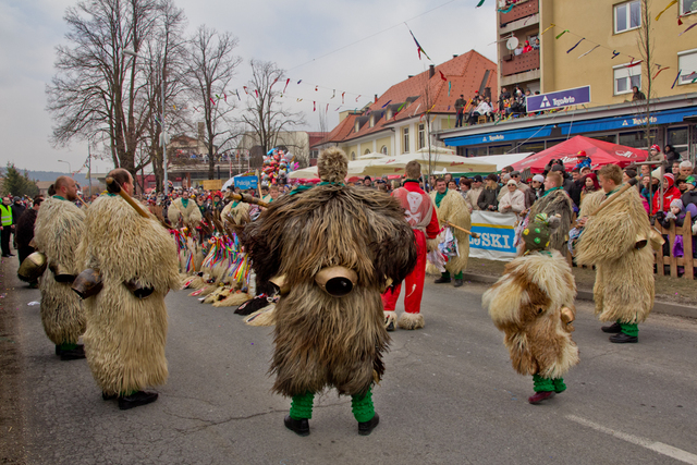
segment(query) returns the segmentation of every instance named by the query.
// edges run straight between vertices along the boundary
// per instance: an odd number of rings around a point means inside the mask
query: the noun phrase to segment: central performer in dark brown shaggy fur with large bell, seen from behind
[[[285,427],[309,435],[314,396],[333,387],[352,396],[366,436],[380,419],[371,389],[390,341],[380,292],[414,268],[414,234],[399,201],[343,184],[342,150],[322,151],[317,171],[318,186],[273,201],[245,228],[243,244],[259,281],[283,279],[271,371],[273,391],[293,399]]]

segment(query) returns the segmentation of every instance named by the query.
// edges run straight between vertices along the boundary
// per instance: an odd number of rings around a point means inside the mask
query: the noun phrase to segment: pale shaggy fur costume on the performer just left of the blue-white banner
[[[448,191],[445,197],[440,200],[440,208],[436,205],[436,191],[430,193],[431,200],[436,207],[438,215],[438,221],[441,225],[445,222],[450,222],[456,227],[464,228],[467,231],[472,229],[472,220],[469,219],[469,209],[465,199],[456,191]],[[460,250],[460,257],[450,257],[448,264],[445,264],[445,270],[450,274],[454,276],[467,268],[467,260],[469,259],[469,234],[466,234],[455,228],[452,228],[453,235],[457,240],[457,249]],[[440,274],[440,271],[431,265],[426,266],[426,272],[429,274]]]

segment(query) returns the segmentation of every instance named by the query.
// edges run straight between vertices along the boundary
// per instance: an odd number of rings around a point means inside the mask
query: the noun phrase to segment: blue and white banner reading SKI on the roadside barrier
[[[487,260],[510,261],[517,255],[515,248],[515,213],[494,211],[473,211],[472,232],[479,238],[469,236],[469,256]]]

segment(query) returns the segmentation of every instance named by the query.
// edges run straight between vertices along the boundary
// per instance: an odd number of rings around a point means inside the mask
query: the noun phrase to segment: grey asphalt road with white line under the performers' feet
[[[565,393],[533,406],[531,379],[513,371],[481,309],[486,287],[427,284],[426,328],[392,333],[374,395],[379,427],[359,437],[350,400],[329,392],[299,438],[282,424],[288,400],[270,393],[270,328],[171,293],[169,382],[155,404],[121,412],[101,400],[85,360],[53,355],[27,305],[39,292],[20,287],[13,267],[3,264],[2,292],[19,315],[30,464],[697,463],[690,320],[652,316],[639,344],[613,345],[580,302],[582,363]]]

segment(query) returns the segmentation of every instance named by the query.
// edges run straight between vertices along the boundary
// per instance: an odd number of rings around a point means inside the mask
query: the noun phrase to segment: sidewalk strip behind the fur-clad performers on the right
[[[508,261],[469,258],[464,280],[481,283],[494,283],[503,273]],[[574,267],[578,298],[592,301],[592,286],[596,272],[592,269]],[[656,303],[653,311],[697,319],[697,285],[694,281],[682,278],[656,276]]]

